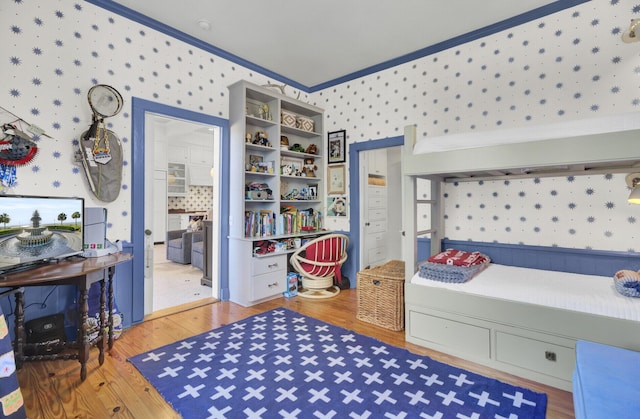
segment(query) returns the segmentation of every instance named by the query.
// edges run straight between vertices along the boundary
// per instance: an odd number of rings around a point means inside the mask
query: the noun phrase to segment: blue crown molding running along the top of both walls
[[[365,69],[347,74],[345,76],[326,81],[324,83],[317,84],[315,86],[305,86],[301,83],[298,83],[294,80],[291,80],[287,77],[284,77],[280,74],[274,73],[264,67],[261,67],[257,64],[253,64],[250,61],[247,61],[244,58],[238,57],[237,55],[231,54],[223,49],[215,47],[211,44],[203,42],[191,35],[188,35],[182,31],[174,29],[164,23],[158,22],[155,19],[151,19],[141,13],[138,13],[134,10],[129,9],[128,7],[124,7],[118,3],[115,3],[112,0],[85,0],[87,3],[91,3],[98,7],[101,7],[110,12],[116,13],[124,18],[130,19],[134,22],[138,22],[142,25],[145,25],[151,29],[157,30],[158,32],[164,33],[168,36],[171,36],[180,41],[186,42],[187,44],[193,45],[194,47],[200,48],[204,51],[210,52],[214,55],[217,55],[221,58],[229,60],[233,63],[241,65],[243,67],[248,68],[249,70],[257,71],[260,74],[263,74],[267,77],[271,77],[274,80],[285,83],[293,88],[302,90],[303,92],[313,93],[319,90],[327,89],[329,87],[336,86],[341,83],[346,83],[348,81],[365,77],[373,73],[377,73],[382,70],[386,70],[388,68],[392,68],[398,66],[400,64],[407,63],[409,61],[414,61],[428,55],[432,55],[438,53],[440,51],[444,51],[449,48],[456,47],[458,45],[465,44],[467,42],[475,41],[476,39],[483,38],[485,36],[493,35],[497,32],[513,28],[518,25],[522,25],[524,23],[530,22],[532,20],[559,12],[561,10],[565,10],[574,6],[577,6],[582,3],[587,3],[591,0],[558,0],[544,6],[540,6],[536,9],[530,10],[528,12],[519,14],[509,19],[505,19],[503,21],[494,23],[493,25],[486,26],[484,28],[480,28],[475,31],[468,32],[466,34],[456,36],[454,38],[448,39],[446,41],[440,42],[435,45],[428,46],[426,48],[419,49],[412,53],[403,55],[398,58],[394,58],[392,60],[388,60],[382,62],[380,64],[373,65],[371,67],[367,67]]]

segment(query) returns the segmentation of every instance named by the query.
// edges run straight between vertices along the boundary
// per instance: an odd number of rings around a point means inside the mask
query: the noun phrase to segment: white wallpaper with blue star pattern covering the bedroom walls
[[[325,130],[346,129],[348,142],[399,136],[409,124],[421,139],[637,112],[640,44],[620,35],[639,13],[634,1],[590,1],[301,99],[324,108]],[[130,239],[132,96],[228,118],[228,85],[279,83],[87,2],[4,2],[0,22],[0,107],[51,137],[38,139],[35,161],[5,191],[105,206],[73,162],[74,143],[91,122],[91,86],[124,96],[108,120],[125,155],[120,197],[106,205],[111,240]],[[463,182],[444,195],[452,239],[637,248],[640,207],[626,203],[623,174]],[[330,227],[348,230],[348,218]]]

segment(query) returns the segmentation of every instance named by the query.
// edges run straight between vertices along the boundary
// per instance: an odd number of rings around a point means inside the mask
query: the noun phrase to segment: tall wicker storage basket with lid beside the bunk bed
[[[364,322],[404,329],[404,262],[392,260],[358,272],[358,314]]]

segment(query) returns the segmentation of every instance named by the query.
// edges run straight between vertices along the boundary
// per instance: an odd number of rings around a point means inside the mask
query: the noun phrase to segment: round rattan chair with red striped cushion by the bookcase
[[[330,298],[340,293],[334,279],[342,279],[340,267],[347,260],[348,246],[349,238],[344,234],[327,234],[310,240],[291,255],[291,266],[302,275],[300,297]]]

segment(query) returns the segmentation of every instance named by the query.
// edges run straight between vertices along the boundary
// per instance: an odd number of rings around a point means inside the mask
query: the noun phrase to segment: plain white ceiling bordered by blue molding
[[[521,24],[580,0],[116,0],[240,64],[312,88]],[[541,9],[538,9],[541,8]],[[535,10],[537,9],[537,10]],[[524,15],[523,15],[524,14]],[[150,26],[157,22],[137,19]],[[202,29],[198,22],[210,22]],[[500,23],[502,22],[502,23]],[[497,24],[497,25],[496,25]],[[494,26],[492,26],[494,25]],[[444,45],[441,43],[445,43]],[[432,51],[437,52],[437,51]],[[417,57],[414,57],[414,59]],[[243,62],[246,61],[246,62]],[[266,71],[265,71],[266,70]],[[280,77],[277,77],[280,76]],[[334,83],[335,84],[335,83]]]

